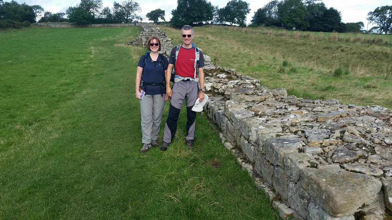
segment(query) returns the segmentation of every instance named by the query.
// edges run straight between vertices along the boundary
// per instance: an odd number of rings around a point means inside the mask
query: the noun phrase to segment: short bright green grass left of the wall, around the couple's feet
[[[144,50],[115,46],[139,32],[0,32],[0,219],[278,219],[204,115],[193,151],[182,112],[168,151],[139,153]]]

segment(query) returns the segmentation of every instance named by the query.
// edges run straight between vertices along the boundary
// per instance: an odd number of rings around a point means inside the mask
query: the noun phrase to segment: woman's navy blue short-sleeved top
[[[167,58],[160,54],[158,55],[156,61],[151,61],[152,60],[149,53],[147,53],[147,63],[145,63],[145,54],[140,57],[138,67],[143,68],[142,81],[144,81],[145,83],[163,83],[165,81],[165,70],[167,70],[168,65]],[[148,65],[148,67],[146,64]],[[150,69],[149,67],[152,69]],[[166,94],[166,87],[164,87],[163,85],[152,86],[143,85],[143,83],[141,84],[142,85],[140,88],[144,90],[147,95]]]

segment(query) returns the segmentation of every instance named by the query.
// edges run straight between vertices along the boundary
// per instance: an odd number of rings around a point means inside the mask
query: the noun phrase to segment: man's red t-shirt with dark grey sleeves
[[[174,47],[171,51],[170,58],[169,58],[169,63],[171,64],[174,64],[176,50],[177,47]],[[201,50],[199,51],[200,51],[200,58],[199,58],[199,65],[197,68],[204,67],[204,56]],[[180,50],[178,51],[177,62],[176,62],[176,75],[182,77],[192,77],[192,78],[194,77],[194,73],[195,73],[194,63],[196,57],[195,55],[196,54],[195,54],[194,47],[189,49],[183,48],[182,46],[180,47]]]

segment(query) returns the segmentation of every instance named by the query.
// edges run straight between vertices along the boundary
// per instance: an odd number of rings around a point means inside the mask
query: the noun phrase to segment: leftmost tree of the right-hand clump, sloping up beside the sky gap
[[[272,0],[258,9],[250,22],[263,26],[281,26],[278,18],[278,0]]]

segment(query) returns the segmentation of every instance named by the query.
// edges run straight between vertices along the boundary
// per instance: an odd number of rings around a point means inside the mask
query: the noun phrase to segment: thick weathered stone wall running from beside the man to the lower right
[[[282,218],[383,220],[392,210],[391,110],[287,96],[205,64],[204,110]]]

